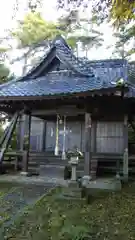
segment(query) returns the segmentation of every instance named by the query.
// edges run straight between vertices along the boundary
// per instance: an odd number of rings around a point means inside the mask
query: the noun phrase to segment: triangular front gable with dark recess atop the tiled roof
[[[49,51],[41,62],[34,66],[22,80],[44,76],[48,72],[56,70],[70,70],[81,76],[93,76],[93,72],[86,64],[77,58],[72,49],[65,43],[62,37],[53,41]]]

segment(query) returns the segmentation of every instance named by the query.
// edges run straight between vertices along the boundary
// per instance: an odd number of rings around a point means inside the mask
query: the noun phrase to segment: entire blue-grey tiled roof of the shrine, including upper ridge
[[[52,50],[68,71],[46,73],[34,78],[33,71],[46,63]],[[114,88],[119,78],[127,81],[127,62],[119,59],[88,61],[74,56],[64,39],[53,42],[47,56],[26,76],[0,86],[0,97],[48,96]]]

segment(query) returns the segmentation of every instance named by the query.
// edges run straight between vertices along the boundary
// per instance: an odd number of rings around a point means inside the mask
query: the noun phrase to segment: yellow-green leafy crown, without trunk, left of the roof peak
[[[19,22],[18,29],[12,32],[21,48],[51,40],[58,34],[62,34],[58,26],[45,21],[38,12],[28,13],[24,20]]]

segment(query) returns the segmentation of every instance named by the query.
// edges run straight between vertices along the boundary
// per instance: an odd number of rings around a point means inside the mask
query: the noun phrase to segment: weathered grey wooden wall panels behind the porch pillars
[[[35,151],[54,151],[56,139],[56,122],[45,121],[32,117],[31,149]],[[23,134],[23,119],[21,135]],[[84,151],[85,131],[84,122],[67,122],[66,150],[77,146]],[[96,139],[95,139],[96,134]],[[59,150],[63,146],[63,124],[59,125]],[[122,153],[123,152],[123,122],[101,121],[92,123],[92,152]]]

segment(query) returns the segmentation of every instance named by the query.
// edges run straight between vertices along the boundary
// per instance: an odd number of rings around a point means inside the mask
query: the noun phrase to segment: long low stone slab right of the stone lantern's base
[[[97,179],[95,181],[90,181],[85,185],[88,189],[103,189],[103,190],[112,190],[120,191],[121,181],[120,179]]]

